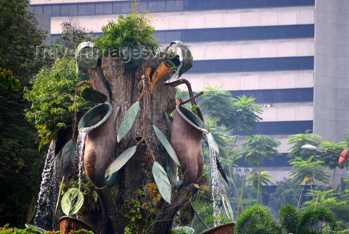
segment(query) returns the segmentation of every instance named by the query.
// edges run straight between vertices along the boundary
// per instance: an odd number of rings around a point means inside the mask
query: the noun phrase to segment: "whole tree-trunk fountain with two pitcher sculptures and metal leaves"
[[[78,177],[77,189],[84,191],[85,199],[77,217],[96,234],[120,234],[134,229],[150,233],[167,230],[165,233],[168,233],[177,211],[188,203],[188,194],[196,193],[206,182],[202,177],[201,141],[204,136],[209,146],[207,160],[210,160],[214,201],[220,189],[217,169],[226,180],[215,154],[214,140],[200,110],[190,111],[183,107],[181,100],[175,99],[175,87],[185,84],[189,101],[196,106],[190,83],[178,79],[192,66],[191,53],[184,43],[174,41],[170,46],[173,44],[177,44],[182,52],[181,61],[177,56],[167,57],[169,47],[155,57],[146,58],[142,48],[134,46],[129,47],[129,52],[122,50],[123,56],[133,56],[135,50],[141,51],[142,56],[128,62],[122,58],[102,58],[101,66],[89,69],[92,83],[82,97],[99,105],[84,114],[80,121],[75,119],[73,127],[79,131],[78,139],[75,144],[72,137],[63,148],[61,185],[69,186],[69,181]],[[90,42],[80,44],[76,54],[91,45]],[[169,61],[178,63],[179,68],[174,67],[177,70],[173,71],[167,64]],[[172,119],[168,116],[173,111]],[[53,144],[50,148],[54,148]],[[70,155],[69,160],[67,155]],[[54,156],[50,151],[47,164],[54,164]],[[66,166],[68,161],[80,163],[79,166]],[[44,186],[56,188],[56,194],[50,200],[53,201],[53,214],[54,205],[57,207],[60,201],[57,199],[58,178],[54,182],[45,178],[59,171],[58,168],[59,165],[50,166],[50,169],[45,166],[42,182],[42,190],[47,190]],[[152,191],[153,195],[159,194],[154,195],[151,199],[157,197],[157,200],[150,203],[145,200],[149,197],[142,197],[147,184],[153,184],[152,188],[156,190],[156,193]],[[40,192],[39,201],[49,200],[42,198]],[[130,215],[134,213],[132,207],[125,205],[131,203],[133,206],[139,204],[140,209],[135,207],[135,218]],[[216,202],[213,205],[217,207]],[[39,223],[39,217],[49,210],[43,211],[38,205],[35,225],[47,230],[55,226],[53,217],[47,225]],[[214,210],[216,215],[218,208]]]

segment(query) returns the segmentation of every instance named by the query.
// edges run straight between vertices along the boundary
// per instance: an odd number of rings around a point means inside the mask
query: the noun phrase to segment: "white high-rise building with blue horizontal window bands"
[[[101,27],[129,12],[129,0],[30,0],[51,15],[51,38],[76,15],[79,26]],[[161,44],[180,40],[193,54],[184,74],[194,91],[224,85],[234,96],[254,96],[264,111],[253,133],[282,142],[266,170],[282,180],[291,170],[289,135],[311,129],[342,141],[349,128],[348,0],[141,0]],[[224,110],[222,110],[224,111]],[[242,169],[243,170],[243,169]],[[336,182],[340,180],[338,172]]]

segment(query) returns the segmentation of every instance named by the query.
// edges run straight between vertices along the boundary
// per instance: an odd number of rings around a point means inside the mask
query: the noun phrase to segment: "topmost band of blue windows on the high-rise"
[[[140,12],[191,11],[315,5],[315,0],[141,0]],[[35,4],[32,11],[51,16],[129,13],[131,1]]]

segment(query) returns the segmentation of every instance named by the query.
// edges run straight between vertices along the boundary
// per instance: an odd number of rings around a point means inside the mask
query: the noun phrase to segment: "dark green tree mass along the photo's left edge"
[[[23,100],[23,87],[42,66],[35,59],[35,46],[42,44],[46,32],[37,29],[27,0],[0,0],[0,15],[0,67],[21,84],[18,90],[0,85],[0,226],[21,226],[38,190],[32,168],[42,157],[35,128],[24,118],[29,105]]]

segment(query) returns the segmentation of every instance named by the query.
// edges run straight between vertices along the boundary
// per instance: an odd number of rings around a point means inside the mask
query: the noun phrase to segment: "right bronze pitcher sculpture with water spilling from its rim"
[[[201,138],[204,131],[207,132],[206,126],[199,117],[189,109],[176,105],[171,124],[171,145],[182,164],[183,176],[189,183],[196,183],[202,175]]]

